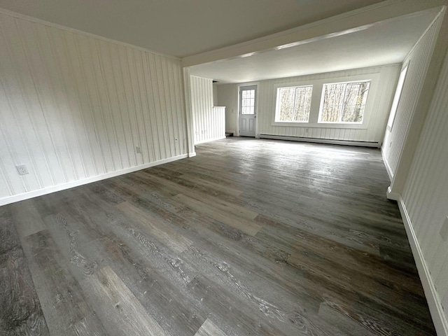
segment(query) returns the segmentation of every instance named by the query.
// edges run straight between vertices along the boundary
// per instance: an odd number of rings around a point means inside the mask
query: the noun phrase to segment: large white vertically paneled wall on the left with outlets
[[[0,59],[0,204],[187,153],[178,59],[10,13]]]

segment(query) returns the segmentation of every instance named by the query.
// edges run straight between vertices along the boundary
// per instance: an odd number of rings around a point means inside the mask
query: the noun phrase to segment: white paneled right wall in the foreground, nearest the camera
[[[437,81],[402,199],[448,321],[448,55]],[[445,322],[446,323],[446,322]]]

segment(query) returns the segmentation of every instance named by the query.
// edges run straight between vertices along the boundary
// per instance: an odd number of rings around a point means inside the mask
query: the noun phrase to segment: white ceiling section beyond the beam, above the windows
[[[438,9],[377,22],[342,36],[282,50],[265,50],[191,68],[195,76],[244,83],[402,62]]]

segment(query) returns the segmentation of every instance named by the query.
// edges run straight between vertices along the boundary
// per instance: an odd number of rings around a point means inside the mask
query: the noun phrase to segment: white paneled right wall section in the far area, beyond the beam
[[[392,130],[386,130],[381,148],[386,167],[392,177],[395,175],[405,146],[441,24],[442,20],[435,20],[403,62],[403,64],[409,62],[405,83]]]

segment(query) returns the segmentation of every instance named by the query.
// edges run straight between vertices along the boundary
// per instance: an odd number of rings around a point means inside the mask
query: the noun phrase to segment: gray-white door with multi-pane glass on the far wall
[[[255,102],[257,87],[239,87],[239,135],[241,137],[255,137]]]

